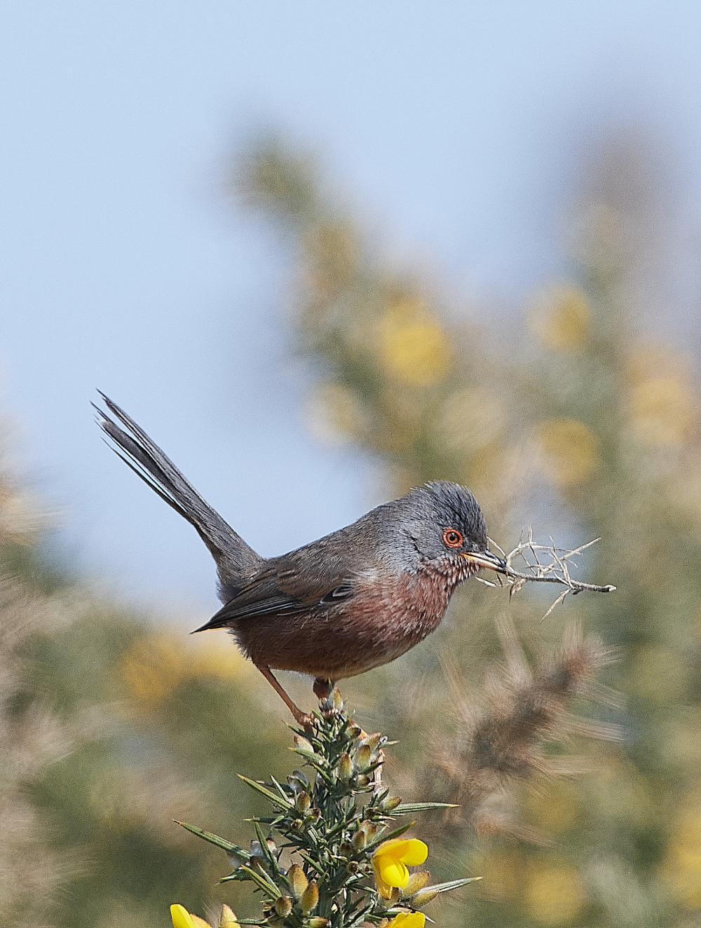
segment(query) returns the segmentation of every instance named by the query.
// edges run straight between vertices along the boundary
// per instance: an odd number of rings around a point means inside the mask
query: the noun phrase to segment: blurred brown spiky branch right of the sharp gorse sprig
[[[502,618],[497,625],[505,666],[487,668],[480,692],[469,690],[454,662],[443,662],[458,729],[452,737],[436,741],[435,759],[423,770],[420,784],[432,798],[445,794],[448,802],[457,804],[444,817],[452,826],[471,825],[476,831],[542,843],[547,835],[518,822],[514,791],[582,771],[581,759],[546,756],[547,743],[575,733],[608,741],[620,738],[616,726],[568,711],[575,697],[620,704],[614,690],[594,680],[596,671],[613,663],[616,653],[596,638],[584,638],[578,625],[569,625],[560,647],[541,655],[532,669],[513,623]]]

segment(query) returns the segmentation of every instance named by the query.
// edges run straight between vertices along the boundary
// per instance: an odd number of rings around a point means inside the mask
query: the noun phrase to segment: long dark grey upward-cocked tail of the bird
[[[246,578],[260,569],[263,558],[237,535],[209,503],[205,502],[191,483],[152,442],[134,419],[113,403],[104,393],[105,406],[123,424],[126,432],[98,406],[97,424],[117,445],[113,450],[144,483],[193,525],[216,561],[220,581],[220,599],[227,602]]]

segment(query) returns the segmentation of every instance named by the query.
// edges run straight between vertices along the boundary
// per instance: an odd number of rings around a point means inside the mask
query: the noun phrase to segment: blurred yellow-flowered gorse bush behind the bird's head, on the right
[[[487,331],[484,311],[457,313],[430,281],[383,259],[314,162],[281,140],[259,141],[237,183],[296,257],[294,326],[320,371],[314,431],[378,458],[388,493],[436,477],[467,483],[504,548],[524,514],[539,519],[537,532],[556,526],[577,543],[601,536],[587,575],[618,586],[612,597],[570,600],[544,626],[532,590],[511,607],[476,584],[456,597],[435,647],[455,655],[466,677],[494,653],[496,612],[511,608],[535,650],[576,618],[617,646],[608,678],[628,705],[608,713],[625,744],[596,751],[589,777],[522,796],[527,820],[556,845],[446,831],[446,858],[483,873],[490,901],[444,911],[441,921],[686,924],[701,909],[698,382],[689,359],[643,330],[639,229],[629,235],[638,204],[594,187],[571,280],[540,291],[528,331],[502,323],[495,341],[497,322]],[[412,651],[370,684],[385,711],[408,664],[421,680],[411,717],[393,723],[405,723],[397,750],[408,780],[425,732],[450,737],[451,712],[453,727],[461,724],[434,655]],[[406,686],[399,691],[404,698]]]

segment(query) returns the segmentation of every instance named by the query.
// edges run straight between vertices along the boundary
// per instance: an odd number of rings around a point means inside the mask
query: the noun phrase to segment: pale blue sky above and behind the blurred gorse
[[[100,442],[96,387],[264,554],[377,501],[370,467],[306,434],[284,261],[219,198],[253,126],[318,148],[394,251],[500,303],[558,272],[578,139],[631,114],[697,232],[696,2],[39,0],[0,21],[2,408],[62,543],[132,601],[208,614],[214,565]]]

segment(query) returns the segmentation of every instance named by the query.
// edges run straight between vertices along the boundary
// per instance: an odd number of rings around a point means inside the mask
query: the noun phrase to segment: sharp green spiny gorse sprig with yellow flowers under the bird
[[[240,777],[263,795],[273,814],[252,818],[255,838],[245,850],[185,822],[184,828],[227,853],[233,870],[222,877],[249,881],[263,897],[258,919],[241,924],[271,928],[355,928],[389,919],[415,917],[439,893],[475,878],[429,886],[429,874],[409,873],[423,863],[428,848],[403,838],[414,824],[397,824],[426,809],[448,803],[404,804],[383,788],[381,734],[368,735],[344,713],[339,691],[320,704],[310,728],[295,729],[292,750],[305,769],[293,770],[284,783]]]

